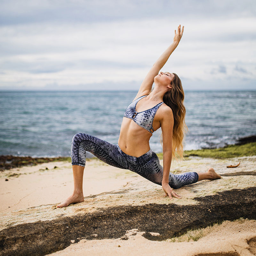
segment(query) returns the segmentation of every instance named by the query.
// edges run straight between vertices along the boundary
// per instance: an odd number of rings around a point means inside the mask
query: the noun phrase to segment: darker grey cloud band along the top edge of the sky
[[[173,17],[184,15],[201,17],[255,16],[256,2],[244,0],[2,0],[0,24],[13,25],[41,22],[100,22],[124,19]]]

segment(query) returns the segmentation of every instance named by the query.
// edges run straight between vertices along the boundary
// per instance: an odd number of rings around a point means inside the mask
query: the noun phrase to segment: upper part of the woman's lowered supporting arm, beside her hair
[[[161,120],[161,129],[163,133],[163,152],[172,151],[172,129],[173,129],[173,114],[170,107],[166,107],[163,118]]]

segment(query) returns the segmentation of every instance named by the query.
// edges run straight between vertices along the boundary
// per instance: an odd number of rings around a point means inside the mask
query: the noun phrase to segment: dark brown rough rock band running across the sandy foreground
[[[195,205],[114,206],[72,217],[19,224],[0,232],[0,247],[3,255],[45,255],[81,239],[125,240],[126,231],[131,229],[144,231],[143,236],[149,240],[162,241],[223,220],[256,218],[256,187],[222,191],[194,200],[198,202]]]

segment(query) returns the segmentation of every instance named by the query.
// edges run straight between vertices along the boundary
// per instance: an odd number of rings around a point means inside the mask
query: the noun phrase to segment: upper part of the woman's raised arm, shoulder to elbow
[[[149,70],[147,76],[142,81],[140,85],[140,89],[134,98],[134,100],[138,99],[140,96],[148,95],[152,90],[152,85],[154,83],[154,77],[158,75],[160,68],[157,65],[153,65],[153,67]]]

